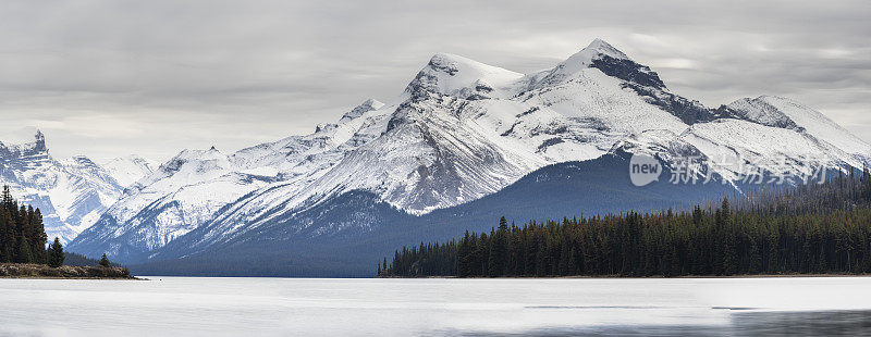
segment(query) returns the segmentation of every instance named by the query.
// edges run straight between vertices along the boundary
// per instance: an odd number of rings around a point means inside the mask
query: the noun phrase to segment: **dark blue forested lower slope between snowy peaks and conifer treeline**
[[[734,191],[719,182],[704,187],[666,180],[633,186],[626,170],[629,155],[549,165],[495,194],[421,216],[392,208],[373,194],[349,191],[236,240],[191,250],[195,236],[180,238],[155,257],[158,262],[132,270],[143,275],[369,277],[372,261],[392,255],[397,247],[453,239],[464,230],[489,232],[502,215],[522,225],[562,216],[653,212]],[[308,225],[312,223],[319,225]]]

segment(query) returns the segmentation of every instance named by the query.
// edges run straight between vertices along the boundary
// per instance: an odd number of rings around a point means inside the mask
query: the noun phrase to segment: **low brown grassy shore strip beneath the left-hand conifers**
[[[0,263],[2,278],[93,278],[93,279],[137,279],[126,267],[62,265],[50,267],[45,264]]]

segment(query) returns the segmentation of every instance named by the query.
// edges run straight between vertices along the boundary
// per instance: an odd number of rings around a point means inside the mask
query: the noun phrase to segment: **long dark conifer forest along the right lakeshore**
[[[732,200],[736,197],[733,196]],[[508,225],[397,250],[380,276],[871,273],[871,175],[716,205]]]

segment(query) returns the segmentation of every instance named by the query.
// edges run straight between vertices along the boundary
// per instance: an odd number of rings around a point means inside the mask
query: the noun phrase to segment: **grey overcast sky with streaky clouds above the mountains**
[[[0,132],[56,157],[234,151],[390,101],[436,52],[529,73],[600,37],[685,97],[871,141],[871,1],[2,1]]]

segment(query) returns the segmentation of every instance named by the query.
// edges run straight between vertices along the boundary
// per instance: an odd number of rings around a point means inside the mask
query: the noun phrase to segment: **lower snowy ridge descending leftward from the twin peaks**
[[[184,150],[125,190],[69,248],[86,255],[108,252],[121,261],[147,257],[258,188],[295,189],[308,184],[356,143],[376,137],[368,129],[383,124],[371,114],[381,105],[368,100],[339,124],[319,125],[314,134],[229,155],[216,148]]]

